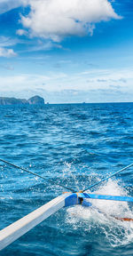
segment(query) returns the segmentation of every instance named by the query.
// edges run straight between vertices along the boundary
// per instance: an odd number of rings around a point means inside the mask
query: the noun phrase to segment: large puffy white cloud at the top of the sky
[[[121,19],[107,0],[21,0],[30,12],[21,17],[30,36],[59,42],[64,36],[92,36],[95,23]]]

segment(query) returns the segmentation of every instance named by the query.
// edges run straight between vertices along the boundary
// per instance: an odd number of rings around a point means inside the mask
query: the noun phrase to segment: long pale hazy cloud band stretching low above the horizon
[[[121,75],[122,74],[122,75]],[[77,74],[61,72],[48,72],[46,76],[39,74],[22,74],[16,76],[0,76],[1,92],[21,92],[27,90],[39,90],[42,88],[48,92],[62,92],[74,90],[78,92],[112,90],[133,95],[133,71],[132,68],[95,69]],[[90,79],[90,83],[89,83]],[[112,79],[112,81],[111,81]],[[123,83],[123,79],[127,83]],[[100,82],[99,82],[100,80]],[[102,82],[106,81],[106,82]]]

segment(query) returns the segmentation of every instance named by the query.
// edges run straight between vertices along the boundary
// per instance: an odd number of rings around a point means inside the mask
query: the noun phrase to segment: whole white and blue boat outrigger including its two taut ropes
[[[11,164],[3,159],[0,159],[0,161],[4,162],[5,164]],[[11,165],[13,167],[19,168],[20,170],[23,170],[25,172],[30,172],[27,169],[24,169],[15,164],[11,164]],[[90,199],[113,200],[113,201],[133,203],[133,197],[130,197],[130,196],[108,196],[108,195],[97,195],[97,194],[85,193],[86,190],[97,186],[98,184],[100,184],[101,182],[103,182],[105,180],[108,180],[109,178],[112,178],[117,173],[120,173],[120,172],[128,169],[132,165],[133,164],[129,164],[128,166],[124,167],[120,171],[113,173],[111,176],[109,176],[103,180],[100,180],[98,183],[91,185],[89,188],[86,188],[83,191],[75,192],[72,188],[67,188],[72,191],[63,193],[63,195],[54,198],[49,203],[44,204],[40,208],[36,209],[34,212],[27,214],[25,217],[21,218],[20,220],[15,221],[10,226],[2,229],[0,231],[0,250],[3,250],[9,244],[12,244],[20,236],[23,236],[24,234],[26,234],[30,229],[35,228],[36,225],[41,223],[43,220],[47,219],[49,216],[51,216],[51,214],[58,212],[59,209],[61,209],[63,207],[81,204],[83,207],[93,207],[98,210],[98,208],[93,206]],[[42,178],[43,180],[47,180],[47,179],[43,178],[42,176],[36,174],[35,172],[30,172],[30,173]],[[51,182],[53,183],[53,181],[51,181]],[[63,185],[59,185],[59,186],[65,188],[65,186],[63,186]],[[102,212],[102,213],[104,213],[104,212]],[[123,221],[123,220],[133,221],[133,219],[130,219],[130,218],[117,218],[114,216],[111,216],[111,217],[115,218],[116,220],[121,220],[121,221]]]

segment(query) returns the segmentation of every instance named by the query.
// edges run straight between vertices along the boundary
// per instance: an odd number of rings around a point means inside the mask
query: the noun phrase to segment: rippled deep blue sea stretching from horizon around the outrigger
[[[77,191],[133,163],[133,103],[0,107],[0,158]],[[133,168],[92,192],[133,196]],[[0,229],[65,189],[0,163]],[[97,202],[95,202],[97,201]],[[132,205],[93,201],[132,217]],[[133,255],[133,223],[74,206],[61,209],[2,256]]]

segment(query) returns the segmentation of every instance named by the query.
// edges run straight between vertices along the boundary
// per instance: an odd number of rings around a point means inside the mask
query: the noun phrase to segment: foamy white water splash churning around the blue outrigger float
[[[88,191],[90,193],[90,191]],[[118,185],[117,181],[108,180],[105,186],[100,187],[95,194],[112,196],[129,196],[128,192]],[[95,229],[95,232],[103,234],[106,243],[113,247],[126,245],[133,242],[133,221],[116,220],[118,218],[132,218],[133,212],[127,202],[116,202],[107,200],[91,199],[92,207],[76,205],[66,210],[66,222],[74,228],[83,228],[88,232]]]

